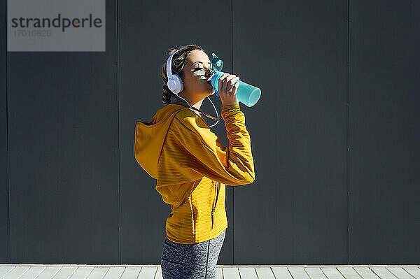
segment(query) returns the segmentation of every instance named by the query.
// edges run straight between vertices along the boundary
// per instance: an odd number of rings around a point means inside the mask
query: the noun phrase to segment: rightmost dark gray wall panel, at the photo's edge
[[[350,259],[418,264],[420,3],[356,1],[350,14]]]

